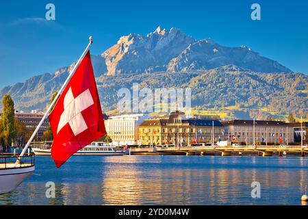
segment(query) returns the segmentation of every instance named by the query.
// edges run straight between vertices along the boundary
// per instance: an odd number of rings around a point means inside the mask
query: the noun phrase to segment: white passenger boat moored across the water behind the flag
[[[51,149],[32,148],[35,155],[51,155]],[[119,146],[110,146],[103,142],[92,142],[74,155],[125,155],[128,151],[121,150]]]

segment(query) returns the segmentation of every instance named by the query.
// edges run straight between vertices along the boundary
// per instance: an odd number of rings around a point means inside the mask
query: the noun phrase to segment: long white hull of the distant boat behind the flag
[[[32,148],[35,155],[51,155],[51,149],[38,149]],[[101,156],[114,156],[125,155],[126,151],[77,151],[74,155],[101,155]]]

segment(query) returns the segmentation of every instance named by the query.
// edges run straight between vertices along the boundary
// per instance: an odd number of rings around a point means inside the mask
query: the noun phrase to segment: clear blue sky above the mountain
[[[55,5],[55,21],[45,6]],[[251,5],[261,5],[261,21]],[[308,1],[42,1],[0,3],[0,88],[77,60],[92,35],[101,54],[129,33],[158,25],[225,46],[245,44],[296,72],[308,73]]]

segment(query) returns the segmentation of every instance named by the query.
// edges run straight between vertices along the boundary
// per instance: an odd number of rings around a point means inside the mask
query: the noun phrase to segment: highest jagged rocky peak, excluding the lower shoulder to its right
[[[107,75],[123,73],[147,73],[166,70],[168,62],[194,42],[177,28],[169,30],[157,27],[146,36],[129,34],[107,49],[105,58]]]

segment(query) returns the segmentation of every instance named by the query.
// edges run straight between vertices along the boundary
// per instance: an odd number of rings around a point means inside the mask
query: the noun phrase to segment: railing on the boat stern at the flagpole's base
[[[16,160],[19,162],[16,164]],[[14,153],[0,153],[0,169],[10,169],[10,168],[23,168],[31,167],[35,165],[35,155],[23,155],[23,157],[18,157]]]

